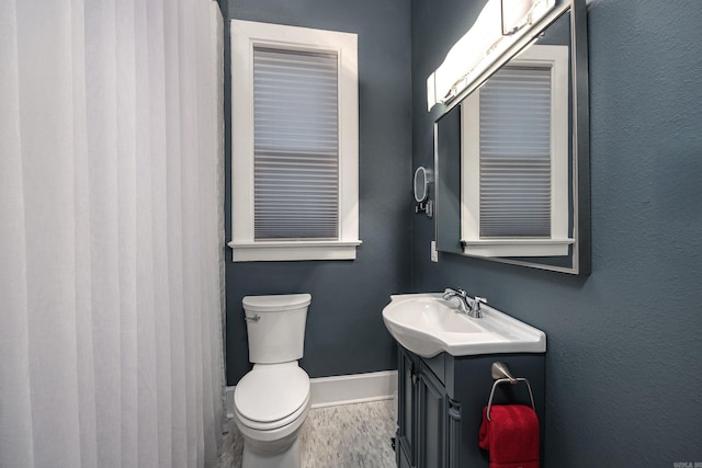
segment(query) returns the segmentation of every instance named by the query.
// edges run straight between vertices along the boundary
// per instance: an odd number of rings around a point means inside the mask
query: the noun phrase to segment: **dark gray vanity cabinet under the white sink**
[[[398,345],[396,458],[400,468],[486,468],[488,454],[478,447],[483,407],[501,361],[514,377],[530,380],[541,423],[543,453],[544,354],[494,354],[420,357]],[[494,404],[530,404],[524,384],[499,385]]]

